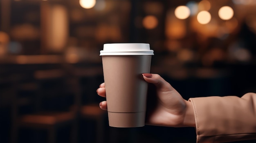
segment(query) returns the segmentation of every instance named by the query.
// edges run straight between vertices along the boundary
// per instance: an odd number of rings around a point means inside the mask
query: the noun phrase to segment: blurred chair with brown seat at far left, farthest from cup
[[[21,109],[19,94],[13,99],[13,128],[12,142],[18,139],[19,128],[45,129],[48,131],[48,141],[56,142],[56,130],[63,125],[70,125],[72,131],[70,138],[76,142],[77,130],[77,101],[76,81],[64,70],[37,70],[34,72],[34,84],[21,84],[19,91],[34,91],[29,97],[31,100],[30,113],[20,114]],[[34,87],[34,88],[33,88]],[[26,92],[25,92],[26,94]],[[70,97],[71,96],[71,97]],[[26,110],[27,111],[27,110]]]

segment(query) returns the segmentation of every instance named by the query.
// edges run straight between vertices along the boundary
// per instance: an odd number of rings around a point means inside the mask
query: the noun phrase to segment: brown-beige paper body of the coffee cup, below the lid
[[[151,55],[102,56],[110,126],[144,126],[148,84],[141,74],[150,63]]]

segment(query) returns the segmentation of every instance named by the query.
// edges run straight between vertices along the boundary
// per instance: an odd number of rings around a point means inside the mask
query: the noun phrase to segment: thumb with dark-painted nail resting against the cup
[[[174,88],[158,74],[143,73],[143,78],[148,83],[154,84],[159,90],[171,91]]]

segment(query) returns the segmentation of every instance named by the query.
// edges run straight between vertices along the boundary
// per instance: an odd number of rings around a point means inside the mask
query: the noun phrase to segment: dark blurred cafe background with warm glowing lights
[[[256,0],[0,0],[0,142],[195,143],[108,126],[99,51],[130,42],[184,99],[256,92]]]

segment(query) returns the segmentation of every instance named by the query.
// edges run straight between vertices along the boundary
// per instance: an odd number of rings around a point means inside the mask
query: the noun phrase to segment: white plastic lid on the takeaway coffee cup
[[[103,45],[102,55],[154,55],[154,51],[145,43],[112,43]]]

